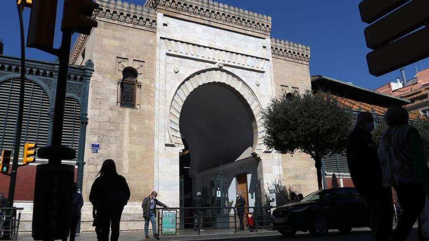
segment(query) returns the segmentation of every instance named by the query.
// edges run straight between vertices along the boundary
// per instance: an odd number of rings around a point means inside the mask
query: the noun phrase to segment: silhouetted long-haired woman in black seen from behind
[[[109,240],[109,230],[112,230],[111,241],[119,238],[119,223],[122,210],[130,199],[130,189],[127,181],[117,174],[115,162],[107,159],[103,162],[100,175],[91,187],[89,201],[97,209],[97,220],[101,227],[101,241]]]

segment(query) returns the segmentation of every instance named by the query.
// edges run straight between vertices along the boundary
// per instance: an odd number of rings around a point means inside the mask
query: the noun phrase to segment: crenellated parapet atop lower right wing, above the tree
[[[309,64],[310,46],[271,38],[271,53],[273,57]]]

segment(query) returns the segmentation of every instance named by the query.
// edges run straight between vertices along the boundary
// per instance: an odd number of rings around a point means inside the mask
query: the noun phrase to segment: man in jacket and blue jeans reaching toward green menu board
[[[144,235],[146,239],[149,239],[149,221],[152,222],[152,232],[154,233],[154,238],[159,239],[159,234],[156,233],[156,205],[160,205],[168,209],[167,205],[156,199],[157,196],[158,193],[153,191],[151,192],[151,195],[145,197],[141,203],[144,218]]]

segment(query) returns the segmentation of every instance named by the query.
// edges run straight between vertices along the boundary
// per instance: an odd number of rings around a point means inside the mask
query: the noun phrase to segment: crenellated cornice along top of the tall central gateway
[[[147,0],[146,7],[165,9],[199,19],[270,35],[271,17],[211,0]]]

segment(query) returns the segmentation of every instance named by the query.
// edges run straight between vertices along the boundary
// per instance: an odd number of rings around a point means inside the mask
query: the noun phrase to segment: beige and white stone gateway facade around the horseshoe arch
[[[254,169],[246,172],[249,183],[261,180],[263,191],[278,181],[303,194],[317,189],[311,158],[280,155],[262,142],[261,109],[287,88],[302,93],[311,87],[310,47],[272,39],[270,17],[213,1],[98,3],[98,28],[90,36],[78,36],[70,60],[79,64],[92,59],[95,68],[89,90],[86,202],[102,162],[111,158],[132,193],[122,230],[142,229],[140,203],[152,190],[165,204],[178,207],[178,153],[184,148],[180,110],[187,96],[206,83],[228,86],[251,109],[253,147],[239,164]],[[122,108],[122,71],[130,67],[138,74],[136,107]],[[94,143],[100,144],[98,153],[91,153]],[[204,173],[212,172],[215,175],[215,170]],[[233,172],[226,175],[235,178]],[[254,203],[253,195],[249,203]],[[92,230],[91,211],[86,203],[83,231]]]

